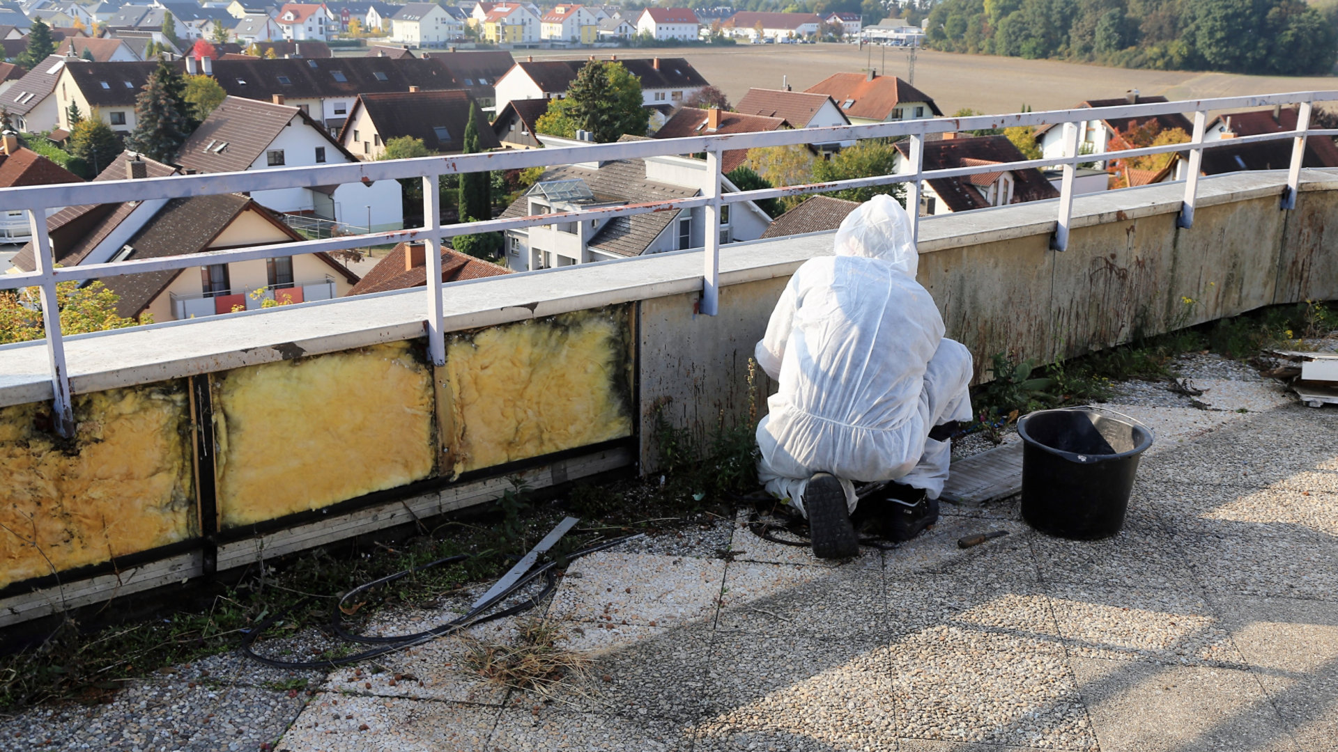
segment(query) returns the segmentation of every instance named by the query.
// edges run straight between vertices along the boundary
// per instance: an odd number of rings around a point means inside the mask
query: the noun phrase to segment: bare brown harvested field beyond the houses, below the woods
[[[538,50],[515,51],[516,59],[585,58],[589,52]],[[789,78],[796,91],[840,71],[886,70],[906,78],[906,51],[895,47],[855,44],[744,45],[720,48],[601,50],[599,58],[652,55],[682,56],[737,102],[749,87],[781,86]],[[982,112],[1016,112],[1021,104],[1034,110],[1062,110],[1084,99],[1119,96],[1129,88],[1168,99],[1274,94],[1338,87],[1338,78],[1246,76],[1193,71],[1141,71],[1082,66],[1057,60],[1024,60],[989,55],[955,55],[922,50],[915,62],[915,87],[934,98],[945,114],[961,107]]]

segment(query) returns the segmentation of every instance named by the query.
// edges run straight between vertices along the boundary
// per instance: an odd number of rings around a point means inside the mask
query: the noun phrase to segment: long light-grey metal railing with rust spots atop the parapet
[[[173,175],[138,181],[99,181],[90,183],[62,183],[50,186],[28,186],[0,189],[0,209],[24,209],[29,213],[29,225],[35,246],[36,269],[27,273],[0,274],[0,290],[37,286],[43,310],[55,309],[56,284],[63,281],[84,281],[99,277],[138,274],[143,272],[163,272],[223,264],[296,256],[305,253],[364,248],[377,244],[401,241],[424,241],[428,245],[427,261],[427,306],[425,326],[428,332],[428,352],[436,365],[446,363],[446,340],[443,332],[442,306],[442,242],[447,238],[484,231],[503,231],[555,222],[582,221],[587,218],[611,219],[652,211],[678,211],[701,207],[704,225],[719,225],[720,207],[727,203],[756,201],[763,198],[783,198],[812,193],[832,193],[846,189],[870,187],[891,183],[909,183],[907,206],[918,207],[921,183],[937,178],[958,178],[981,173],[997,173],[1001,169],[1018,170],[1030,167],[1064,169],[1061,181],[1056,230],[1052,240],[1054,250],[1065,250],[1069,242],[1073,210],[1074,170],[1081,162],[1100,159],[1112,154],[1121,159],[1149,157],[1153,154],[1189,153],[1188,179],[1184,186],[1179,225],[1193,225],[1193,210],[1198,198],[1198,173],[1203,151],[1218,147],[1239,147],[1248,143],[1291,139],[1291,165],[1287,174],[1287,187],[1282,198],[1282,209],[1295,207],[1297,187],[1301,179],[1301,166],[1305,158],[1305,145],[1309,136],[1338,135],[1334,130],[1311,130],[1310,116],[1317,102],[1338,100],[1338,91],[1303,91],[1290,94],[1268,94],[1255,96],[1227,96],[1218,99],[1198,99],[1184,102],[1157,102],[1124,104],[1117,107],[1052,110],[1042,112],[1014,112],[1008,115],[977,115],[970,118],[934,118],[917,120],[896,120],[860,126],[838,126],[824,128],[781,130],[768,132],[744,132],[725,135],[698,135],[674,139],[649,139],[614,142],[603,145],[563,146],[541,150],[495,151],[486,154],[460,154],[454,157],[420,157],[385,162],[355,162],[345,165],[321,165],[310,167],[281,167],[274,170],[254,170],[246,173],[218,173],[205,175]],[[1224,140],[1206,142],[1204,128],[1211,111],[1240,110],[1251,107],[1298,104],[1297,128],[1294,131],[1270,132],[1239,136]],[[1148,118],[1153,115],[1193,112],[1193,134],[1189,142],[1165,146],[1148,146],[1100,154],[1078,154],[1078,123],[1098,118]],[[1025,159],[1020,162],[990,163],[977,167],[954,167],[925,170],[923,154],[926,136],[945,132],[1005,128],[1012,126],[1064,126],[1064,154],[1056,158]],[[807,146],[811,143],[832,143],[866,138],[898,139],[909,138],[909,158],[911,170],[890,175],[874,175],[826,183],[805,183],[749,191],[721,191],[721,154],[739,149],[764,149],[776,146]],[[440,223],[440,199],[436,190],[443,174],[475,173],[487,170],[523,170],[527,167],[549,167],[579,162],[606,162],[613,159],[637,159],[646,157],[673,157],[685,154],[706,155],[706,177],[701,194],[689,198],[629,203],[622,206],[601,206],[557,214],[510,217],[483,222]],[[221,193],[261,191],[302,187],[310,185],[336,185],[352,182],[375,182],[385,179],[420,179],[423,182],[424,226],[367,233],[360,236],[340,236],[333,238],[309,240],[264,246],[213,250],[195,254],[167,256],[161,258],[119,261],[108,264],[88,264],[71,268],[54,268],[51,238],[47,234],[45,209],[88,203],[120,203],[126,201],[166,199],[190,195]],[[913,234],[918,237],[919,211],[911,211]],[[705,233],[702,249],[702,278],[700,312],[714,316],[720,300],[720,237]],[[413,294],[413,293],[405,293]],[[423,293],[419,293],[423,294]],[[47,353],[51,367],[52,408],[59,416],[58,430],[68,435],[74,427],[70,407],[70,375],[66,367],[64,341],[58,316],[44,316]]]

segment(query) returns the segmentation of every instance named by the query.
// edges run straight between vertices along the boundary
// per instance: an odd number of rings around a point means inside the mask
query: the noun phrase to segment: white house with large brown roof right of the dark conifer
[[[177,161],[197,173],[235,173],[356,162],[340,142],[298,107],[227,96],[182,145]],[[376,230],[404,226],[396,181],[252,191],[276,211]]]

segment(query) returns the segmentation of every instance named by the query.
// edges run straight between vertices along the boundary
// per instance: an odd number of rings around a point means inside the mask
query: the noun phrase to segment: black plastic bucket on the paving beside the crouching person
[[[1022,519],[1041,533],[1093,541],[1124,526],[1139,455],[1152,430],[1096,408],[1042,409],[1022,436]]]

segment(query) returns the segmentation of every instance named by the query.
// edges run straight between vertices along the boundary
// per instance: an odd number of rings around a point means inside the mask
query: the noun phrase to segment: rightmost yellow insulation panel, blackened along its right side
[[[630,436],[629,317],[626,306],[578,310],[451,337],[452,470]]]

